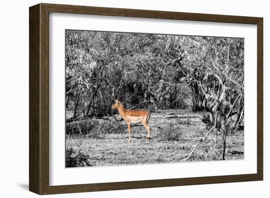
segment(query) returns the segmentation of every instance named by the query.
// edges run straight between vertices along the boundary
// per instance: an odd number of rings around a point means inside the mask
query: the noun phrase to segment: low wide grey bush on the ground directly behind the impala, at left
[[[102,139],[102,134],[124,133],[126,127],[116,121],[104,119],[83,119],[66,123],[66,135],[87,135],[90,138]]]

